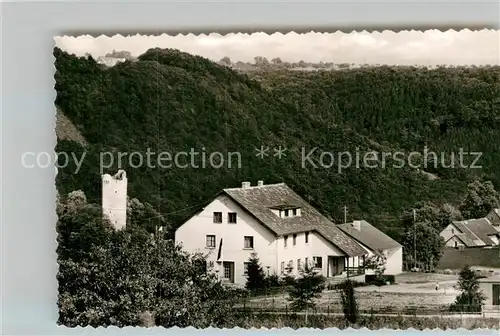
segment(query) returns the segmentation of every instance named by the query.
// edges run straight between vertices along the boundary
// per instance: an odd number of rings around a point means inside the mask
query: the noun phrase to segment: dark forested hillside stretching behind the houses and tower
[[[348,220],[393,227],[393,235],[401,215],[419,202],[456,205],[475,178],[500,184],[500,67],[242,74],[168,49],[150,49],[112,68],[57,48],[54,55],[56,105],[87,141],[85,149],[58,142],[56,151],[87,151],[78,174],[74,167],[59,170],[62,194],[81,189],[99,199],[101,151],[241,153],[241,168],[127,168],[122,162],[130,196],[151,203],[172,230],[242,181],[285,182],[337,222],[347,206]],[[271,157],[255,156],[261,145],[271,148]],[[286,157],[272,157],[278,146],[287,148]],[[429,178],[408,166],[341,173],[337,162],[301,167],[302,148],[409,153],[424,146],[446,153],[447,164],[460,148],[483,152],[477,163],[483,168],[430,164],[425,170],[437,178]]]

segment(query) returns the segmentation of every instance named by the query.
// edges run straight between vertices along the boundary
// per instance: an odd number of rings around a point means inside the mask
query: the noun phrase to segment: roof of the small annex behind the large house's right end
[[[353,223],[340,224],[337,227],[372,251],[401,247],[401,244],[367,221],[361,220],[359,224],[359,230]]]

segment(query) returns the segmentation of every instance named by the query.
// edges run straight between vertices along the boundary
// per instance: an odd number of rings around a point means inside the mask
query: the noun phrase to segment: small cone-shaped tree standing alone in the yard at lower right
[[[465,266],[459,273],[459,279],[455,289],[460,294],[451,305],[450,310],[460,312],[480,312],[485,296],[479,288],[479,281],[476,273]]]

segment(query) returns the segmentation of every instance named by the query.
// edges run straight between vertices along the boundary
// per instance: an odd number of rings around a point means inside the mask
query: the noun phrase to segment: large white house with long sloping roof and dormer
[[[246,282],[252,252],[268,274],[296,275],[309,263],[327,278],[345,276],[346,267],[359,274],[360,260],[369,255],[287,185],[262,181],[224,189],[177,229],[175,241],[188,252],[208,254],[208,267],[236,285]]]

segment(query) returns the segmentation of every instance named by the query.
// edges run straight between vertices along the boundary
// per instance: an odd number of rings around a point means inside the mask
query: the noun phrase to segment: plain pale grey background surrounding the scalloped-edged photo
[[[412,2],[372,1],[352,2],[269,2],[222,3],[199,1],[196,6],[177,3],[118,3],[118,2],[57,2],[3,3],[2,4],[2,199],[0,221],[1,240],[1,297],[2,320],[0,328],[5,334],[19,335],[101,335],[103,328],[57,327],[57,284],[55,275],[55,195],[54,172],[51,169],[25,170],[20,165],[22,151],[52,151],[56,144],[54,132],[55,98],[54,59],[51,55],[56,34],[96,31],[142,31],[155,35],[161,27],[164,31],[229,31],[241,27],[241,31],[253,31],[252,27],[273,26],[299,27],[498,27],[498,3],[491,0],[446,0]],[[292,3],[293,2],[293,3]],[[360,3],[362,5],[360,6]],[[233,9],[233,12],[230,12]],[[229,10],[229,11],[228,11]],[[429,16],[427,13],[433,12]],[[231,13],[228,15],[228,13]],[[21,20],[19,18],[22,18]],[[443,24],[444,22],[444,24]],[[396,23],[396,24],[395,24]],[[221,27],[223,26],[223,27]],[[132,27],[127,29],[126,27]],[[179,29],[189,27],[191,29]],[[197,28],[199,27],[199,28]],[[216,27],[215,29],[207,29]],[[229,28],[228,28],[229,27]],[[352,31],[346,27],[340,31]],[[236,29],[233,29],[236,30]],[[285,31],[287,29],[280,29]],[[299,29],[303,31],[304,29]],[[324,30],[324,29],[318,29]],[[329,29],[325,29],[329,30]],[[79,32],[77,32],[79,31]],[[99,34],[94,34],[99,35]],[[126,34],[122,34],[126,35]],[[52,67],[51,67],[52,66]],[[26,122],[30,120],[31,122]],[[8,140],[7,140],[8,139]],[[12,159],[12,160],[11,160]],[[51,197],[46,191],[51,189]],[[13,196],[13,197],[12,197]],[[22,199],[23,202],[19,200]],[[28,234],[29,232],[29,234]],[[15,258],[13,260],[13,258]],[[20,266],[21,265],[21,266]],[[95,332],[98,329],[100,332]],[[106,334],[162,333],[165,329],[110,327]],[[179,328],[173,328],[177,334]],[[235,335],[252,332],[234,329]],[[258,329],[255,329],[258,330]],[[264,329],[265,330],[265,329]],[[194,333],[187,328],[184,334]],[[240,331],[240,332],[238,332]],[[242,331],[242,332],[241,332]],[[288,329],[279,331],[290,332]],[[275,330],[275,332],[279,332]],[[316,332],[300,329],[296,333]],[[324,332],[335,329],[325,329]],[[338,330],[337,330],[338,331]],[[384,330],[387,333],[392,330]],[[214,329],[199,331],[215,335]],[[226,332],[231,333],[231,330]],[[346,331],[348,332],[348,331]],[[383,335],[385,332],[357,331],[361,334]],[[407,330],[412,335],[412,329]],[[430,333],[429,331],[428,333]],[[436,330],[462,335],[498,335],[495,330]],[[416,335],[417,333],[414,333]],[[426,334],[426,332],[423,332]]]

